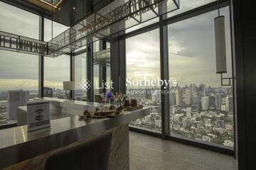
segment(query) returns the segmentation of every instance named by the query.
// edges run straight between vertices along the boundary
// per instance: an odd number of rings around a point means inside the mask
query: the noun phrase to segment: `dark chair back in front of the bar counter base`
[[[75,147],[68,147],[46,159],[46,170],[107,170],[112,133],[106,133]]]

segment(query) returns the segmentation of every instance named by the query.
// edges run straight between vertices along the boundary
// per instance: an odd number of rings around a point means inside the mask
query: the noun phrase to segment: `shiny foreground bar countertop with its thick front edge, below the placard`
[[[70,116],[68,118],[61,118],[51,121],[51,129],[38,130],[36,132],[26,133],[26,126],[17,128],[10,128],[14,133],[16,130],[22,132],[17,136],[21,139],[15,139],[14,145],[1,146],[0,145],[0,169],[11,164],[16,164],[23,160],[35,157],[39,154],[46,153],[59,147],[64,147],[73,142],[78,142],[86,137],[100,134],[105,130],[110,130],[119,125],[124,125],[137,118],[142,118],[149,115],[150,108],[142,108],[137,111],[129,111],[125,115],[117,118],[104,118],[93,119],[89,121],[79,120],[78,115]],[[64,121],[69,119],[72,127],[67,128],[65,125],[61,125]],[[54,131],[52,128],[55,125],[64,127],[63,130]],[[15,130],[16,129],[16,130]],[[8,129],[6,130],[8,131]],[[1,134],[1,130],[0,130]],[[2,133],[3,134],[3,133]],[[15,135],[14,135],[15,136]],[[14,139],[13,139],[14,140]],[[18,142],[18,140],[21,140]],[[23,140],[23,142],[22,142]],[[0,140],[1,141],[1,140]],[[29,151],[29,152],[28,152]]]

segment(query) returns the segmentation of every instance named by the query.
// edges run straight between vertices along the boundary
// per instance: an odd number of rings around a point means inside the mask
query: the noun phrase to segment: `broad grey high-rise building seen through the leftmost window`
[[[29,91],[7,91],[7,118],[9,120],[17,119],[17,107],[26,106],[29,99]]]

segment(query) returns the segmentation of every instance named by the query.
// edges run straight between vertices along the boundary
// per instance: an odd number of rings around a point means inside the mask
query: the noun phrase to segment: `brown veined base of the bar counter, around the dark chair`
[[[128,124],[119,125],[116,128],[106,130],[102,132],[100,135],[105,134],[106,132],[112,132],[112,145],[110,151],[110,163],[109,170],[129,170],[129,126]],[[44,165],[46,163],[46,159],[53,154],[54,152],[58,152],[61,149],[67,147],[73,147],[75,145],[79,145],[81,142],[85,142],[86,140],[90,140],[93,137],[88,137],[85,140],[80,142],[75,142],[65,147],[61,147],[59,149],[54,149],[53,151],[46,152],[46,154],[38,155],[37,157],[33,157],[32,159],[27,159],[26,161],[19,162],[18,164],[14,164],[12,166],[6,167],[4,170],[42,170],[44,169]],[[46,144],[47,145],[47,144]]]

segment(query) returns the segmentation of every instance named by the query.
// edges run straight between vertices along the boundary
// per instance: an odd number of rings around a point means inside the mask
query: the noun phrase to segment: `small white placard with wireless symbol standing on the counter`
[[[50,104],[48,101],[28,103],[28,132],[50,127]]]

